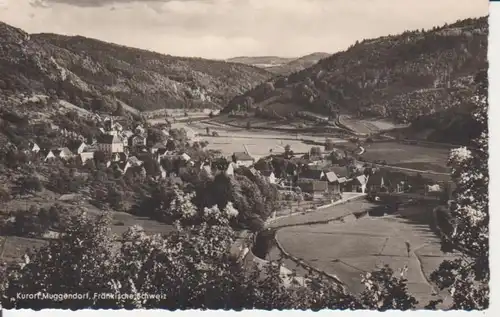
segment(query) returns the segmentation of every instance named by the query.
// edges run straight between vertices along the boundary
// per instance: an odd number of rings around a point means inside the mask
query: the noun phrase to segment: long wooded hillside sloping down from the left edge
[[[113,111],[218,108],[267,80],[243,64],[162,55],[80,36],[27,34],[0,22],[1,95],[45,94]]]

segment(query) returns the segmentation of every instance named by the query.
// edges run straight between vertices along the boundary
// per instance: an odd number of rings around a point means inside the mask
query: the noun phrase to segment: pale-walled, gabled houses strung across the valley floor
[[[246,152],[235,152],[228,158],[229,164],[217,166],[212,162],[193,162],[186,153],[174,153],[167,149],[167,143],[148,144],[146,129],[142,125],[137,125],[133,130],[125,130],[120,123],[115,122],[113,118],[107,118],[103,121],[103,128],[98,138],[86,144],[78,140],[68,147],[55,149],[41,149],[35,143],[30,144],[30,151],[39,153],[44,161],[50,159],[77,158],[82,164],[95,158],[97,151],[106,154],[110,158],[106,162],[107,167],[125,174],[127,171],[138,168],[144,169],[144,162],[138,157],[141,153],[149,153],[150,157],[158,163],[163,158],[178,158],[183,161],[184,166],[199,168],[209,175],[223,172],[227,175],[233,175],[238,167],[247,167],[254,174],[260,174],[270,183],[277,184],[283,191],[297,191],[309,194],[310,197],[320,198],[325,194],[342,194],[343,192],[372,193],[381,191],[403,192],[410,186],[408,177],[401,173],[390,173],[383,169],[371,169],[365,166],[347,166],[329,164],[325,160],[329,153],[312,155],[312,152],[302,157],[286,157],[294,164],[296,168],[286,175],[275,175],[269,168],[258,170],[256,160]],[[162,131],[170,137],[169,131]],[[194,136],[188,139],[193,140]],[[272,160],[274,154],[265,158]],[[327,162],[327,164],[325,164]],[[167,172],[160,164],[161,176],[166,177]],[[144,172],[145,171],[141,171]],[[434,188],[432,188],[434,190]]]

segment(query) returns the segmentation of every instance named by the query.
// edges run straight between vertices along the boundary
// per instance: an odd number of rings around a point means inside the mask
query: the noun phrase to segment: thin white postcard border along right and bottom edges
[[[397,0],[393,0],[397,1]],[[438,0],[439,1],[439,0]],[[485,0],[470,0],[470,1],[485,1]],[[489,43],[488,43],[488,59],[489,59],[489,124],[490,124],[490,193],[496,193],[494,188],[497,188],[500,192],[500,2],[490,2],[490,19],[489,19]],[[498,122],[497,122],[498,120]],[[442,312],[442,311],[412,311],[412,312],[399,312],[399,311],[387,311],[384,313],[380,312],[368,312],[368,311],[328,311],[323,310],[320,312],[312,311],[242,311],[242,312],[232,312],[232,311],[176,311],[172,312],[178,317],[181,316],[193,316],[203,315],[203,316],[276,316],[277,314],[287,317],[295,316],[331,316],[333,314],[344,314],[344,316],[366,316],[374,314],[382,314],[383,316],[401,316],[401,315],[411,315],[411,316],[436,316],[447,314],[448,316],[500,316],[500,314],[495,314],[499,304],[499,292],[497,292],[496,284],[500,285],[500,274],[497,274],[500,270],[499,266],[499,244],[497,239],[495,239],[496,228],[500,225],[500,217],[497,217],[495,212],[500,210],[500,195],[490,195],[490,268],[491,268],[491,296],[490,296],[490,309],[486,312]],[[494,298],[497,298],[494,300]],[[72,316],[117,316],[117,317],[132,317],[132,316],[148,316],[148,317],[163,317],[165,315],[171,314],[169,311],[163,310],[80,310],[80,311],[64,311],[64,310],[43,310],[43,311],[31,311],[31,310],[17,310],[17,311],[3,311],[3,316],[5,317],[29,317],[29,316],[51,316],[51,317],[67,317],[70,314]]]

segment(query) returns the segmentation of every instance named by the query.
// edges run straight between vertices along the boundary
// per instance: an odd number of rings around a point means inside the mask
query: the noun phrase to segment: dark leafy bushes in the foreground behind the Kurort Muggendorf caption
[[[310,276],[301,286],[285,287],[279,266],[244,266],[230,255],[238,211],[228,204],[201,213],[191,197],[176,192],[170,208],[182,215],[168,236],[147,235],[131,227],[121,239],[109,232],[107,216],[74,216],[61,239],[9,268],[2,283],[6,308],[165,308],[165,309],[410,309],[416,303],[403,277],[388,268],[366,276],[360,300],[330,281]],[[196,224],[188,224],[196,215]],[[381,278],[382,277],[382,278]],[[23,299],[18,294],[88,294],[80,300]],[[126,298],[124,294],[157,298]],[[100,296],[94,296],[100,294]],[[113,294],[106,298],[102,294]],[[384,303],[379,305],[379,301]],[[391,304],[391,303],[394,303]]]

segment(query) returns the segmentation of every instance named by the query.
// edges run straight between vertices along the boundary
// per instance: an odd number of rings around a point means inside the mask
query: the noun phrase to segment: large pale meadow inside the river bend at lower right
[[[363,207],[361,203],[356,201],[337,208]],[[370,205],[364,207],[370,208]],[[446,295],[443,291],[433,296],[438,290],[428,279],[444,259],[452,258],[441,252],[440,240],[432,231],[431,207],[404,206],[396,215],[366,216],[357,220],[351,217],[344,223],[282,228],[276,237],[287,252],[338,276],[354,293],[364,288],[362,273],[384,263],[395,271],[406,265],[409,291],[423,307],[429,300]],[[411,245],[409,256],[405,241]]]

